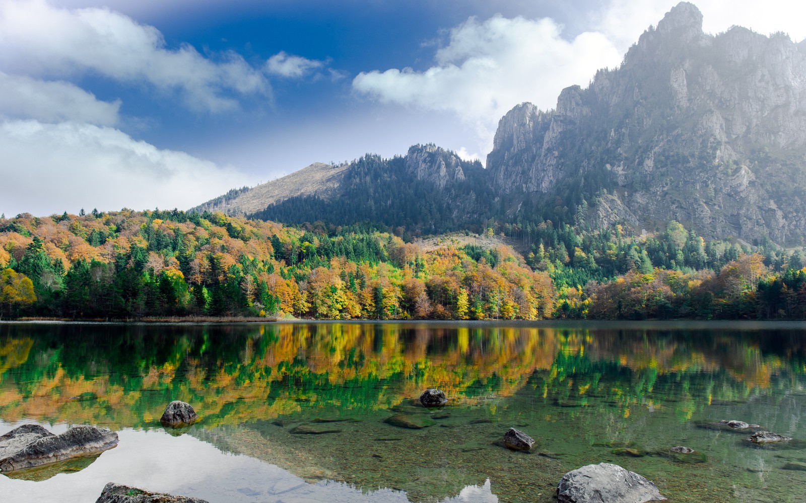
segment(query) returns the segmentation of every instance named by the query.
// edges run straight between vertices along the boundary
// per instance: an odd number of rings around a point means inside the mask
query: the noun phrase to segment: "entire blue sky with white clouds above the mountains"
[[[0,0],[0,212],[189,208],[434,142],[484,160],[675,2]],[[695,2],[806,37],[803,2]]]

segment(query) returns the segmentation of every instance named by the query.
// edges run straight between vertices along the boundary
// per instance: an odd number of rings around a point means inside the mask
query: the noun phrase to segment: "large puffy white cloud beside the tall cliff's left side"
[[[383,103],[455,113],[476,127],[479,148],[489,151],[498,120],[514,105],[554,108],[563,88],[587,85],[596,69],[621,61],[604,35],[568,41],[561,29],[552,19],[470,18],[451,30],[431,68],[362,72],[353,88]]]

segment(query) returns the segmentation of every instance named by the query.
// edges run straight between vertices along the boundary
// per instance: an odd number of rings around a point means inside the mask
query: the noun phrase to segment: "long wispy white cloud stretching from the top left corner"
[[[233,94],[263,93],[264,75],[234,52],[217,60],[183,44],[165,48],[155,27],[106,8],[67,10],[44,0],[0,2],[0,68],[33,76],[94,72],[179,91],[193,109],[234,109]]]

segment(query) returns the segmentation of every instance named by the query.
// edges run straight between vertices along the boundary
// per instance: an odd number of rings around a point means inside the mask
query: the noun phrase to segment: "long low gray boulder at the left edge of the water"
[[[23,425],[2,436],[0,471],[31,468],[76,456],[93,456],[118,445],[118,434],[106,428],[77,426],[53,435],[34,426]]]

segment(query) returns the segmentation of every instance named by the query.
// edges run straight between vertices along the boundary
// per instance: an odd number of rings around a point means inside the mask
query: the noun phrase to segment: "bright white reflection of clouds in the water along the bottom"
[[[0,421],[0,433],[20,423]],[[64,425],[50,427],[59,433]],[[76,473],[60,473],[32,482],[0,476],[4,503],[53,501],[93,503],[107,482],[132,485],[151,491],[201,497],[210,503],[314,503],[322,501],[359,503],[405,503],[405,493],[379,489],[362,493],[349,484],[326,480],[308,484],[290,472],[243,455],[218,450],[189,435],[173,437],[164,431],[118,431],[118,447],[104,452],[89,467]],[[498,498],[483,486],[467,486],[446,503],[494,503]]]

